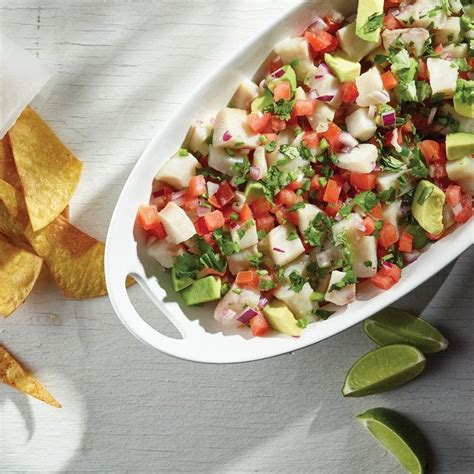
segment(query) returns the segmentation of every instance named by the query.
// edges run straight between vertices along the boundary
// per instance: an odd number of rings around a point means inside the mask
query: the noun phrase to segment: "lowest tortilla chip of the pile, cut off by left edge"
[[[0,241],[0,314],[9,316],[25,301],[42,264],[42,258]]]

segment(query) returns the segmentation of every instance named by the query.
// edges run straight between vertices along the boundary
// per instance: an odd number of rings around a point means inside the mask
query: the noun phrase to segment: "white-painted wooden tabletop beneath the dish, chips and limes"
[[[72,221],[105,238],[154,132],[203,76],[293,3],[3,0],[5,34],[58,71],[40,112],[85,163]],[[0,321],[0,340],[64,408],[0,387],[0,471],[401,472],[354,420],[381,405],[422,428],[433,472],[474,472],[473,255],[398,303],[436,324],[450,348],[402,389],[358,400],[340,388],[372,347],[360,327],[262,362],[192,364],[137,342],[107,298],[68,301],[42,278]]]

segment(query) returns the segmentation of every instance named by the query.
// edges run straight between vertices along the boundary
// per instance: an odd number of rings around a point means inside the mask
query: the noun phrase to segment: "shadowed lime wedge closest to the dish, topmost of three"
[[[446,338],[430,323],[397,308],[385,308],[366,319],[364,331],[380,346],[409,344],[424,354],[448,347]]]

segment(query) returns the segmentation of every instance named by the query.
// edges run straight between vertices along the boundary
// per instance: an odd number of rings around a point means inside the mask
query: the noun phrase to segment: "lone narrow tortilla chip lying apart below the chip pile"
[[[0,381],[53,407],[61,408],[61,404],[3,346],[0,346]]]

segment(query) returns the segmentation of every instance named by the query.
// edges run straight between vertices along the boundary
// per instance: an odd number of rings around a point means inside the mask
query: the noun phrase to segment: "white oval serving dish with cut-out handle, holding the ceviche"
[[[125,327],[140,341],[175,357],[197,362],[246,362],[284,354],[322,341],[363,321],[406,295],[453,261],[474,242],[474,223],[459,227],[423,253],[403,270],[401,281],[389,291],[362,285],[358,300],[339,309],[327,321],[311,324],[299,338],[274,333],[252,337],[248,328],[229,332],[214,321],[213,306],[186,307],[171,286],[169,273],[144,251],[144,235],[135,229],[136,210],[149,200],[153,177],[162,163],[182,144],[193,120],[213,116],[223,107],[244,78],[256,75],[281,39],[299,35],[316,14],[332,8],[349,15],[356,1],[303,2],[247,43],[198,87],[161,128],[132,170],[115,207],[110,223],[105,273],[112,306]],[[258,72],[257,72],[258,76]],[[182,339],[167,337],[145,322],[130,302],[125,288],[132,275],[157,307],[153,317],[167,317]]]

